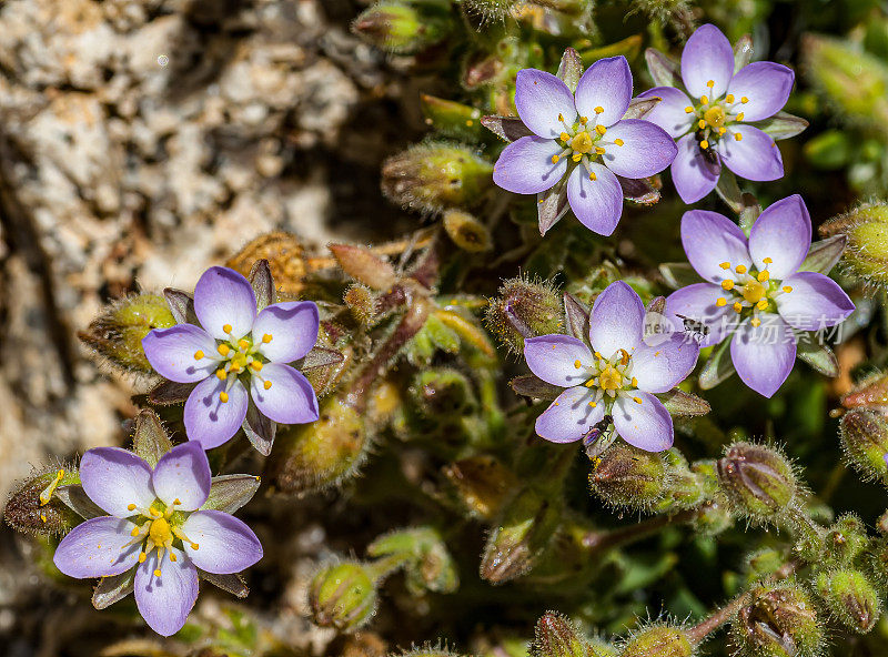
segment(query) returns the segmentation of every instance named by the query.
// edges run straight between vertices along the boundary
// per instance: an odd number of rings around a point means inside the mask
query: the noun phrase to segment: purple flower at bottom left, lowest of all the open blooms
[[[239,573],[262,558],[255,534],[221,511],[200,511],[210,464],[198,443],[173,447],[157,467],[118,447],[90,449],[80,462],[89,498],[110,515],[78,525],[53,563],[85,579],[134,572],[135,604],[163,636],[179,631],[198,599],[198,568]]]

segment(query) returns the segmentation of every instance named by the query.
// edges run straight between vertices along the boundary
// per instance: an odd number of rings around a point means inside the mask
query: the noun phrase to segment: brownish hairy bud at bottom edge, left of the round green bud
[[[808,595],[793,585],[759,587],[731,624],[736,654],[743,657],[815,657],[824,630]]]

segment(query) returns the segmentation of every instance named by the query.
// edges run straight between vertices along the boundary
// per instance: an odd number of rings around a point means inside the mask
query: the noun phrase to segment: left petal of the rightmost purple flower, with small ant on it
[[[719,306],[717,301],[725,299],[725,291],[719,285],[694,283],[676,290],[666,297],[666,316],[676,331],[685,330],[685,319],[690,323],[690,337],[697,341],[700,348],[718,344],[736,324],[737,313],[730,305]],[[696,323],[706,326],[705,335]]]

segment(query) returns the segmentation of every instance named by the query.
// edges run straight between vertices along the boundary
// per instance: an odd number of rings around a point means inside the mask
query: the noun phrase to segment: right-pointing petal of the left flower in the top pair
[[[616,140],[623,145],[617,145]],[[625,178],[647,178],[666,169],[678,152],[673,138],[659,125],[640,119],[626,119],[607,129],[604,142],[605,165]]]

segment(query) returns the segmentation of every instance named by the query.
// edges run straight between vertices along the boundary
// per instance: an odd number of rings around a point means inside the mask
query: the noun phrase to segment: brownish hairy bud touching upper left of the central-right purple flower
[[[484,315],[487,328],[515,354],[524,353],[524,340],[558,333],[564,326],[561,295],[546,282],[525,277],[503,282]]]

